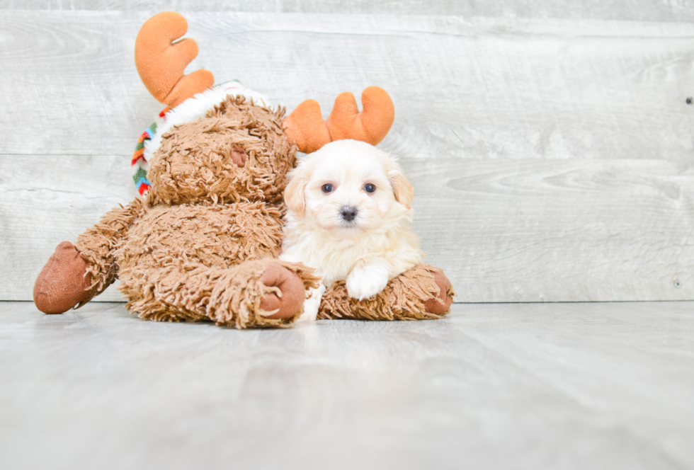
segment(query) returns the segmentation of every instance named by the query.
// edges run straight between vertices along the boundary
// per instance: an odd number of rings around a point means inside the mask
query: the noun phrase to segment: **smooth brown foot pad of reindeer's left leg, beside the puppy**
[[[304,283],[292,270],[278,263],[270,263],[261,276],[261,282],[268,287],[278,287],[281,296],[268,292],[261,299],[261,309],[275,311],[268,315],[270,319],[290,319],[300,311],[304,304]]]

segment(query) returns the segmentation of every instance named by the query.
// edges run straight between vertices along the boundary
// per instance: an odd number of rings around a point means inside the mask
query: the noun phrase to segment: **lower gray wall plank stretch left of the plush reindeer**
[[[137,192],[123,156],[0,156],[0,299],[30,300],[55,247]],[[120,300],[110,287],[98,299]]]

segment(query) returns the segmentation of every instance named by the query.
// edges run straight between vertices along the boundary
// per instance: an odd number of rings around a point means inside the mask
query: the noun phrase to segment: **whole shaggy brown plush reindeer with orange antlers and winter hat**
[[[58,314],[89,302],[117,277],[126,307],[142,319],[210,320],[235,328],[288,326],[302,313],[316,278],[277,259],[282,195],[295,151],[333,139],[380,142],[394,117],[385,91],[370,87],[358,113],[351,93],[324,122],[314,101],[284,119],[238,82],[212,86],[209,71],[184,76],[197,55],[178,13],[159,13],[140,30],[137,69],[155,98],[169,104],[143,134],[134,163],[144,197],[108,212],[75,245],[60,243],[34,286],[34,302]],[[421,265],[364,301],[343,283],[326,292],[319,318],[439,318],[453,290]]]

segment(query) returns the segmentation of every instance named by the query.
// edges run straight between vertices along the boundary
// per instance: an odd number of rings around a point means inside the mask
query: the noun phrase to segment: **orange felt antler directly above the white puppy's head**
[[[354,95],[348,91],[336,99],[327,120],[315,100],[297,106],[284,122],[284,131],[299,150],[310,154],[340,139],[355,139],[375,145],[386,136],[395,119],[393,101],[383,88],[370,86],[361,93],[359,113]]]

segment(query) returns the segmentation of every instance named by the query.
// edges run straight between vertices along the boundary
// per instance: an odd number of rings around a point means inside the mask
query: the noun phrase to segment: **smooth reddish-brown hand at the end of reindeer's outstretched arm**
[[[62,314],[89,296],[89,264],[69,241],[63,241],[34,284],[34,304],[45,314]]]

